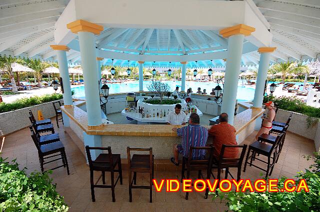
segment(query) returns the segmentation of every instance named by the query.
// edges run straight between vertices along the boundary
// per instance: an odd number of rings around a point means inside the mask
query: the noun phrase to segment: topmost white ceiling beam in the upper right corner
[[[278,12],[287,12],[291,14],[299,14],[306,17],[320,19],[320,12],[317,8],[303,6],[298,4],[277,2],[277,1],[259,1],[256,3],[257,7]]]

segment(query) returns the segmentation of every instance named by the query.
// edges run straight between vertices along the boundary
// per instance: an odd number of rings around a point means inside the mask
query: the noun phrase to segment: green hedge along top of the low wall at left
[[[62,98],[62,94],[45,94],[41,96],[32,96],[28,98],[20,98],[15,101],[12,101],[11,103],[0,103],[0,113],[1,112],[7,112],[12,111],[28,106],[33,106],[36,104],[41,104],[49,101],[59,100]]]

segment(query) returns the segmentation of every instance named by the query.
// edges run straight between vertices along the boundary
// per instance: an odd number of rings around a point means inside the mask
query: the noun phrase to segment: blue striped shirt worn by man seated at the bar
[[[182,154],[184,157],[189,156],[189,146],[205,146],[208,138],[208,130],[199,124],[189,124],[177,129],[177,135],[181,136]],[[202,159],[205,150],[193,150],[193,159]]]

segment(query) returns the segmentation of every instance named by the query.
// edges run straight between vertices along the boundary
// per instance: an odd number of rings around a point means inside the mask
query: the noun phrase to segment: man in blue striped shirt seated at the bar
[[[172,150],[174,157],[171,157],[171,162],[179,165],[178,154],[182,153],[184,157],[189,156],[189,146],[205,146],[208,138],[208,130],[201,126],[199,115],[195,112],[190,114],[187,126],[181,128],[173,127],[172,130],[181,136],[181,144],[173,144]],[[204,150],[193,150],[193,159],[202,159],[204,157]]]

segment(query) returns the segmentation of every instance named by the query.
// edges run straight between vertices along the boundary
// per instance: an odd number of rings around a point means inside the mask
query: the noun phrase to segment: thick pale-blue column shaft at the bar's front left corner
[[[102,124],[100,113],[100,99],[98,88],[98,76],[92,74],[96,70],[95,36],[92,32],[79,31],[79,45],[83,68],[84,93],[86,100],[86,112],[89,126]]]

